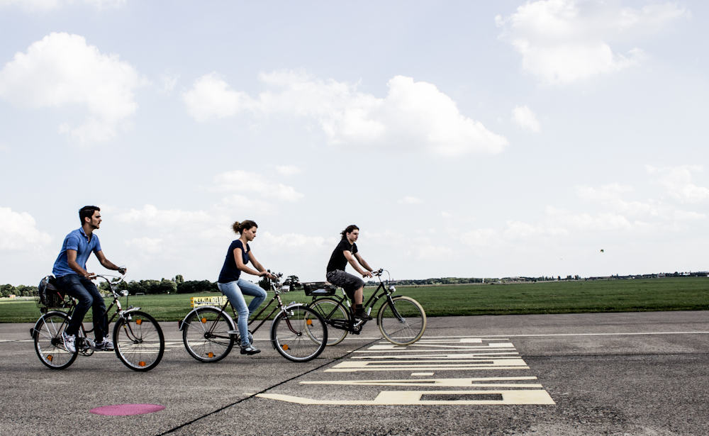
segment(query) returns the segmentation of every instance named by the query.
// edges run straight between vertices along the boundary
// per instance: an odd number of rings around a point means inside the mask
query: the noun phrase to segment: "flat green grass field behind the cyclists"
[[[365,288],[365,298],[373,290]],[[709,310],[709,278],[705,277],[398,286],[396,294],[418,300],[428,316]],[[283,296],[284,301],[311,301],[302,291]],[[140,306],[157,320],[177,321],[190,310],[190,297],[189,294],[131,296],[128,304]],[[125,298],[121,304],[125,307]],[[39,316],[34,301],[0,301],[1,323],[33,322]],[[90,312],[85,319],[91,320]]]

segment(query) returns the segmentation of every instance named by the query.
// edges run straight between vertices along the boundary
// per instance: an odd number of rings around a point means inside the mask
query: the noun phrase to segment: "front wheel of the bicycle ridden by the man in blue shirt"
[[[165,352],[165,338],[155,318],[135,311],[113,326],[113,347],[123,364],[134,371],[157,367]]]

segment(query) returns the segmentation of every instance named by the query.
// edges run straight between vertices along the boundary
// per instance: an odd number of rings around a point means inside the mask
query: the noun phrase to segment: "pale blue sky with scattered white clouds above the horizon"
[[[350,223],[401,279],[707,270],[707,13],[0,0],[0,283],[84,204],[132,279],[215,280],[243,219],[307,280]]]

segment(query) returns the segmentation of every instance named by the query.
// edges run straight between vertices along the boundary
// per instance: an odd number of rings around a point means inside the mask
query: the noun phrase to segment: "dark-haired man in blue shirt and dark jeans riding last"
[[[67,329],[62,333],[64,346],[68,352],[76,352],[76,335],[84,321],[84,315],[89,308],[94,308],[94,334],[96,335],[96,348],[99,350],[113,350],[113,342],[108,340],[108,316],[104,297],[99,293],[91,279],[96,276],[86,272],[86,259],[91,252],[107,269],[113,269],[125,274],[125,267],[117,267],[111,263],[104,252],[101,251],[99,237],[94,235],[94,230],[101,225],[101,209],[96,206],[84,206],[79,210],[79,219],[82,226],[64,238],[62,251],[54,262],[52,274],[57,278],[57,285],[70,296],[77,298],[79,303],[74,310],[72,320]]]

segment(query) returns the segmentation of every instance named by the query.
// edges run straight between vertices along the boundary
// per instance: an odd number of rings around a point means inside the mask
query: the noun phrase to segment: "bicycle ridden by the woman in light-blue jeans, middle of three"
[[[255,323],[274,301],[277,301],[276,307],[253,330],[249,331],[249,339],[252,341],[252,333],[259,330],[274,313],[279,312],[273,318],[271,325],[271,345],[281,356],[291,362],[308,362],[315,359],[325,350],[325,344],[328,342],[328,328],[325,326],[325,321],[304,304],[291,303],[284,306],[281,292],[286,290],[280,285],[283,274],[273,275],[276,279],[268,279],[268,283],[274,296],[249,321],[248,325]],[[284,282],[283,286],[287,286],[287,291],[290,291],[293,284],[288,281]],[[234,318],[230,317],[226,311],[227,306],[230,306],[228,299],[220,308],[200,306],[179,321],[178,327],[182,330],[184,347],[199,362],[218,362],[229,354],[235,342],[241,342],[234,321],[238,318],[238,314],[232,307]]]

